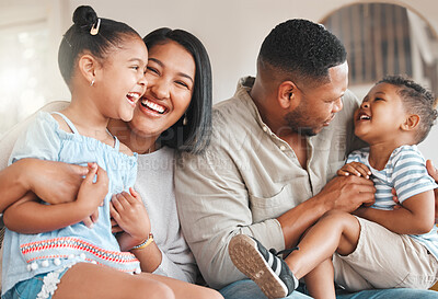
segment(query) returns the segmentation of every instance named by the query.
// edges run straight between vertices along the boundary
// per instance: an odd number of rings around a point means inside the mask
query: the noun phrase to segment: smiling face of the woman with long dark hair
[[[136,135],[158,137],[183,116],[192,100],[195,69],[193,56],[175,42],[149,49],[148,89],[129,123]]]

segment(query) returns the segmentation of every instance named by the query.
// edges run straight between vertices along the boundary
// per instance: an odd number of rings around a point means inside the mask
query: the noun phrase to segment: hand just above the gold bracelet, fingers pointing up
[[[113,223],[128,233],[132,245],[137,245],[149,237],[151,225],[140,195],[132,188],[129,188],[129,192],[130,194],[123,192],[113,195],[110,212],[114,219]]]

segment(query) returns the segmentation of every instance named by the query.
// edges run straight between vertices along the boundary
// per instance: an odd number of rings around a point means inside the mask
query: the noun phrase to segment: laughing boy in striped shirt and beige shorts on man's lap
[[[416,145],[434,125],[435,102],[430,92],[403,77],[379,81],[354,116],[355,134],[369,148],[353,152],[338,171],[372,180],[374,205],[355,216],[325,214],[285,260],[239,234],[229,245],[234,265],[269,298],[289,295],[301,277],[314,298],[335,298],[333,280],[351,291],[433,286],[438,269],[437,185]]]

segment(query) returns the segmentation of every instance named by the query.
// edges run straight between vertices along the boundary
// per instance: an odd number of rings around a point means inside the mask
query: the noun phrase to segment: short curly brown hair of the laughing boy
[[[413,80],[400,74],[384,77],[376,84],[379,83],[388,83],[397,87],[396,93],[402,99],[406,110],[410,113],[418,114],[419,125],[416,135],[416,143],[422,142],[429,134],[438,116],[435,110],[437,103],[435,95]]]

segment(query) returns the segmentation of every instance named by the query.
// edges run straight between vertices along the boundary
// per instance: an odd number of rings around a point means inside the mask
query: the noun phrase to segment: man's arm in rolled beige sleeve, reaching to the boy
[[[183,154],[178,160],[175,192],[183,232],[199,269],[210,286],[220,288],[245,278],[228,254],[233,235],[245,233],[268,248],[289,248],[325,211],[353,211],[364,202],[373,200],[374,188],[362,177],[336,177],[316,196],[290,210],[281,208],[288,211],[277,219],[256,221],[256,203],[251,199],[237,163],[222,149],[209,148],[204,156]],[[285,198],[275,200],[290,206],[291,195],[284,192],[280,196]],[[262,204],[269,204],[268,200]]]

